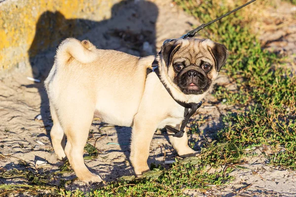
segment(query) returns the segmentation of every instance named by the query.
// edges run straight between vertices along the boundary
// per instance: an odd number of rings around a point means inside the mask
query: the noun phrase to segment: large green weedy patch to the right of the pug
[[[196,1],[176,2],[204,23],[241,4],[224,7],[218,0],[200,5]],[[214,146],[223,145],[202,161],[235,163],[246,148],[267,145],[271,163],[296,169],[296,76],[280,64],[280,57],[261,49],[252,32],[253,19],[247,21],[242,15],[236,12],[200,32],[226,45],[229,58],[224,71],[237,86],[235,91],[216,87],[216,98],[235,107],[222,117],[224,128],[218,131]]]

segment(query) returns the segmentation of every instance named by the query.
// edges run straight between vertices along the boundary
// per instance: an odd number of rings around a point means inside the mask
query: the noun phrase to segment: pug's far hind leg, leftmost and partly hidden
[[[66,135],[60,125],[56,110],[51,105],[50,107],[50,114],[53,121],[53,126],[50,131],[50,137],[51,137],[51,143],[54,149],[54,152],[58,156],[59,160],[65,160],[66,154],[65,154],[65,140]]]

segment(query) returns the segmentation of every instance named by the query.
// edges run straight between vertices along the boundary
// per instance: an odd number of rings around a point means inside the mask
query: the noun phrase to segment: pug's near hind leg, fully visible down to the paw
[[[67,114],[63,114],[62,125],[67,135],[65,153],[80,181],[100,182],[102,181],[100,176],[91,173],[83,160],[83,149],[93,120],[94,109],[87,104],[81,105],[81,103],[80,105],[72,104],[72,108],[73,106],[76,106],[75,112],[71,111],[70,106],[65,106],[68,110]]]

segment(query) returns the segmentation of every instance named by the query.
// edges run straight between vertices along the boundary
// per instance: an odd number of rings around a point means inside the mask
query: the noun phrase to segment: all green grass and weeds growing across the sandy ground
[[[195,0],[175,2],[203,23],[242,4],[242,1],[234,1],[228,6],[226,0],[208,0],[202,4],[197,4]],[[264,2],[267,3],[267,0]],[[203,145],[201,159],[177,160],[168,170],[154,168],[152,176],[143,179],[125,177],[125,180],[98,187],[87,196],[182,196],[186,190],[222,185],[232,179],[227,172],[237,166],[244,156],[252,154],[246,149],[252,150],[253,147],[264,147],[262,152],[271,164],[296,169],[295,73],[282,65],[282,57],[261,49],[252,32],[256,14],[244,16],[242,11],[236,12],[199,32],[203,37],[227,46],[230,55],[222,72],[236,86],[235,90],[215,88],[216,98],[220,101],[225,99],[225,104],[233,107],[222,116],[223,129],[218,131],[216,139]],[[198,127],[206,121],[197,120],[196,124],[191,132],[198,132]],[[89,154],[87,159],[98,156],[97,149],[91,145],[87,145],[85,151]],[[209,173],[206,167],[222,164],[231,164],[231,167],[215,173]],[[69,171],[69,165],[65,164],[61,170]],[[28,172],[24,176],[29,180],[29,175],[31,177]],[[0,173],[0,177],[4,176],[7,176],[6,172]],[[52,177],[47,176],[49,179]],[[34,182],[36,178],[41,180],[40,184]],[[36,176],[29,183],[34,187],[43,187],[42,180],[43,176]],[[0,185],[0,189],[3,187]],[[11,188],[6,188],[6,191],[9,190]],[[54,192],[62,196],[84,196],[79,190],[66,191],[61,185],[55,186]]]

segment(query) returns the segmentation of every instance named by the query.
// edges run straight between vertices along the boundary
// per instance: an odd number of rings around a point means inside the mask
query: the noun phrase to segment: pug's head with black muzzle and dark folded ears
[[[186,38],[165,43],[159,56],[166,83],[176,85],[185,95],[201,95],[217,78],[228,51],[210,39]]]

